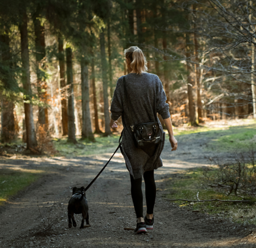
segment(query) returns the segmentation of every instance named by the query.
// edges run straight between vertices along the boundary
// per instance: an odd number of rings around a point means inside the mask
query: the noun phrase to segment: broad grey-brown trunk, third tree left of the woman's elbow
[[[90,116],[90,93],[88,64],[81,59],[81,92],[82,92],[82,139],[88,138],[94,141],[93,130],[91,129]]]

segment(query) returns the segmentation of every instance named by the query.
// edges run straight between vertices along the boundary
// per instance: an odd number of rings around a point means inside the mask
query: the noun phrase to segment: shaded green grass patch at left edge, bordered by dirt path
[[[0,205],[42,176],[42,170],[0,170]]]

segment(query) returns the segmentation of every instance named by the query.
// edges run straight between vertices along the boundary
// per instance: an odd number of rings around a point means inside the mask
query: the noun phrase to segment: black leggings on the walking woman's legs
[[[154,170],[150,170],[143,174],[146,190],[147,214],[153,214],[155,205],[155,195],[157,188],[155,187]],[[143,217],[143,194],[142,194],[142,177],[134,179],[131,174],[131,198],[137,218]]]

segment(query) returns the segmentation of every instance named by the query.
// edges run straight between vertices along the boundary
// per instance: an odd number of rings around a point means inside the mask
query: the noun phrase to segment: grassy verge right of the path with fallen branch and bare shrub
[[[214,175],[216,170],[212,170]],[[172,174],[167,181],[165,197],[168,199],[185,199],[197,200],[197,192],[199,192],[199,200],[242,200],[238,196],[227,196],[225,192],[219,192],[210,188],[204,183],[203,169],[190,169],[185,172]],[[247,222],[256,224],[256,198],[244,197],[244,200],[254,201],[253,203],[234,203],[234,202],[191,202],[175,201],[175,204],[188,210],[199,210],[214,216],[227,217],[235,222]]]

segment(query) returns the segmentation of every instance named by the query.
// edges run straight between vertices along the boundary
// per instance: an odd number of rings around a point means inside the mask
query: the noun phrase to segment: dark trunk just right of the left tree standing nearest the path
[[[37,70],[37,92],[40,101],[43,105],[47,104],[47,84],[45,77],[42,75],[42,70],[45,70],[45,27],[41,25],[41,21],[38,19],[39,16],[33,18],[34,29],[35,29],[35,66]],[[42,68],[42,70],[41,70]],[[38,124],[43,125],[47,130],[47,107],[38,106]]]

